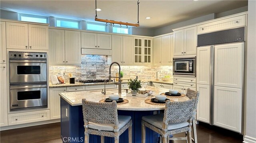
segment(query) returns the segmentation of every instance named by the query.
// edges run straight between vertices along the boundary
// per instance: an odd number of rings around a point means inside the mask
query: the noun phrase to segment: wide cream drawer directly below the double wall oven
[[[50,119],[50,111],[34,111],[17,114],[8,114],[8,125],[46,121]]]

